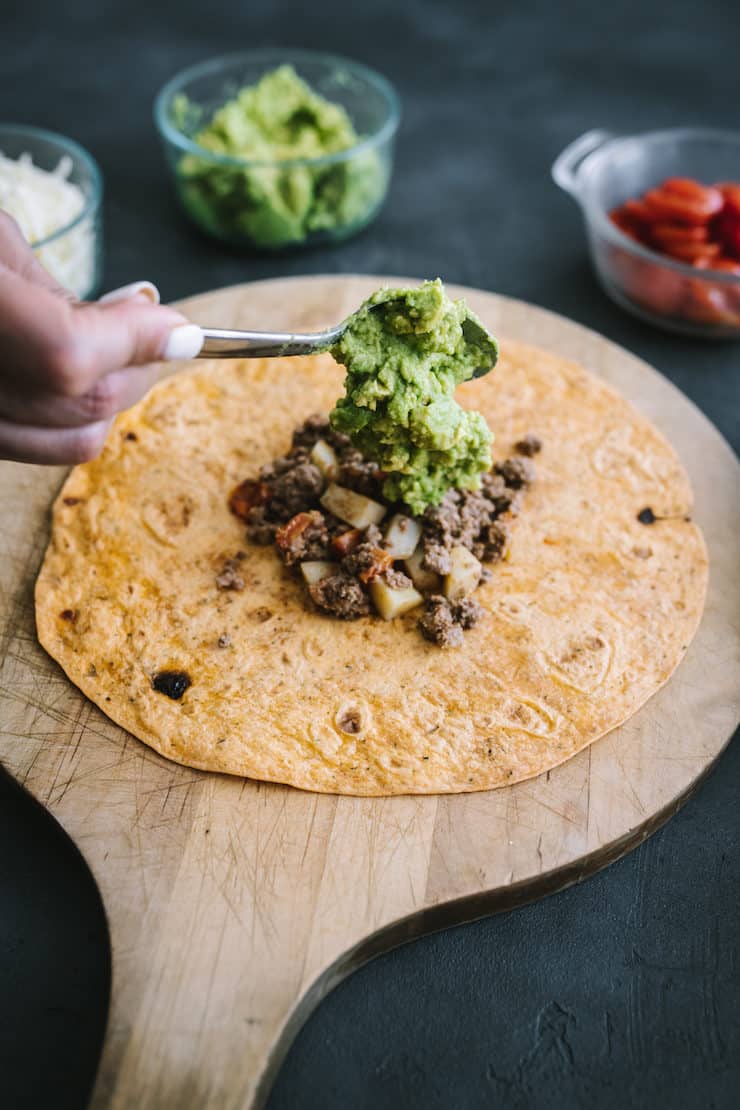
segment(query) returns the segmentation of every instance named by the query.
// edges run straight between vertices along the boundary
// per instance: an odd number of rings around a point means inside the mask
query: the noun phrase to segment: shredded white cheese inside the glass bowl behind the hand
[[[72,160],[64,155],[48,172],[30,154],[7,158],[0,151],[0,209],[18,222],[29,243],[39,243],[72,223],[82,212],[85,195],[69,180]],[[75,296],[85,297],[95,282],[95,220],[85,216],[67,234],[34,249],[41,264]]]

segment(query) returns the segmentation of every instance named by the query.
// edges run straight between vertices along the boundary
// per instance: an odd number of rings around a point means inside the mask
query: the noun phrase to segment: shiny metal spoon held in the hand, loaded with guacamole
[[[385,307],[389,302],[383,301],[369,310]],[[203,346],[199,359],[282,359],[294,354],[321,354],[338,342],[353,316],[348,316],[336,327],[325,332],[237,332],[222,327],[203,327]],[[496,362],[496,342],[483,324],[467,319],[463,322],[465,340],[480,347],[481,352],[490,352],[488,365],[479,366],[474,377],[483,377]]]

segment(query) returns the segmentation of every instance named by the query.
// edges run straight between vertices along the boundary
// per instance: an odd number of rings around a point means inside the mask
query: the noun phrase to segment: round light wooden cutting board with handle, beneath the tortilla
[[[376,278],[241,285],[184,304],[216,326],[313,330]],[[353,968],[617,859],[676,811],[738,722],[740,466],[672,385],[605,339],[473,290],[503,336],[582,362],[688,467],[711,559],[707,612],[667,687],[540,778],[488,794],[334,798],[166,763],[109,722],[36,642],[32,584],[62,471],[0,464],[0,760],[82,849],[113,948],[93,1107],[261,1106],[292,1038]]]

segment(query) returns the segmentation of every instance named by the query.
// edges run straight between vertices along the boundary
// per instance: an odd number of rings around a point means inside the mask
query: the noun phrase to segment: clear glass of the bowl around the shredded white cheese
[[[61,224],[49,228],[47,213],[38,213],[0,193],[0,209],[8,204],[21,231],[31,243],[39,262],[64,289],[80,300],[89,300],[100,289],[102,272],[103,179],[91,154],[79,143],[53,131],[0,123],[0,153],[17,161],[29,154],[40,170],[60,168],[65,180],[82,191],[82,206]]]

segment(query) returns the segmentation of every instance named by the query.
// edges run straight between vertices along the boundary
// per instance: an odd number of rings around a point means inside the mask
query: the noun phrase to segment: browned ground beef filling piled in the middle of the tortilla
[[[457,647],[464,632],[484,615],[470,592],[490,578],[483,564],[496,563],[506,554],[511,525],[535,478],[531,458],[540,450],[537,436],[525,436],[515,444],[511,457],[495,463],[483,476],[479,490],[449,490],[416,524],[404,522],[420,527],[409,562],[388,551],[383,531],[394,513],[407,515],[407,511],[383,497],[385,475],[346,435],[335,432],[325,416],[310,416],[293,433],[288,453],[263,466],[257,478],[236,486],[229,504],[245,522],[252,543],[274,543],[285,566],[295,571],[310,564],[303,574],[311,601],[322,613],[354,620],[374,612],[374,602],[381,608],[378,592],[387,595],[389,591],[392,596],[397,592],[395,596],[401,597],[406,591],[404,596],[422,613],[422,635],[440,647]],[[330,483],[382,506],[382,526],[353,526],[328,512],[321,498]],[[332,503],[332,508],[342,512],[337,504]],[[453,599],[443,587],[457,573],[460,553],[456,548],[466,548],[475,558],[462,553],[468,562],[466,595]],[[217,584],[221,589],[242,588],[234,561],[226,562]]]

